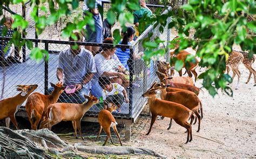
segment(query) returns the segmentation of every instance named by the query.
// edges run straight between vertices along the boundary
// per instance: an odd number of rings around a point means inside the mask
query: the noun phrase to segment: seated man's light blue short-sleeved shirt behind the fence
[[[63,70],[66,86],[81,84],[87,73],[96,73],[92,53],[83,47],[76,56],[73,56],[70,49],[60,52],[57,68]]]

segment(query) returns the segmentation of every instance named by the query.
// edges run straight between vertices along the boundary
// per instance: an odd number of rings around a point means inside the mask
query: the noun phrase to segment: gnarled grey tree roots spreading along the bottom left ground
[[[85,146],[84,143],[72,146],[48,129],[35,131],[0,127],[0,158],[82,157],[78,155],[79,151],[104,155],[145,154],[165,158],[146,148]]]

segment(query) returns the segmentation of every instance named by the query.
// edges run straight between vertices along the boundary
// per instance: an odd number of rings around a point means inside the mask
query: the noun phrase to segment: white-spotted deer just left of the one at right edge
[[[242,53],[237,52],[237,51],[232,51],[229,54],[229,57],[227,59],[227,63],[226,63],[227,74],[229,73],[230,68],[231,68],[231,70],[233,71],[232,80],[234,79],[236,74],[238,76],[237,87],[235,89],[239,88],[241,73],[238,70],[238,66],[240,63],[242,63],[243,60],[244,60],[244,56],[242,56]]]

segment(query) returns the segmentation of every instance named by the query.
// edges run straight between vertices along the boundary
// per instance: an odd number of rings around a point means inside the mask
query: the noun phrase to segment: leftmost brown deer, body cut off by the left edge
[[[26,98],[28,98],[28,96],[35,91],[37,87],[38,85],[18,85],[17,91],[21,91],[21,93],[0,101],[0,119],[5,118],[6,127],[9,128],[11,120],[16,129],[19,129],[15,119],[15,114]]]

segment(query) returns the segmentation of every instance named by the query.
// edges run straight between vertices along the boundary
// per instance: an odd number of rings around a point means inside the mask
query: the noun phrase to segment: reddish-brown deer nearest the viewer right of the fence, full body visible
[[[147,90],[142,96],[147,97],[147,103],[150,107],[150,112],[152,114],[150,129],[146,135],[149,135],[152,129],[154,122],[156,121],[157,115],[170,117],[173,119],[178,125],[187,129],[187,141],[192,141],[192,127],[190,123],[188,123],[188,119],[193,119],[193,113],[190,109],[185,106],[171,102],[165,101],[156,98],[156,89],[153,88],[154,84],[151,86],[149,90]]]

